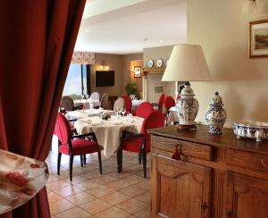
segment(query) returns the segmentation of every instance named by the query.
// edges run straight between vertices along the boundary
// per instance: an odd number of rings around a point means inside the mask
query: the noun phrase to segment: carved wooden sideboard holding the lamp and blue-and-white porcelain
[[[202,125],[150,133],[151,217],[268,217],[267,141],[237,139],[231,129],[214,136]]]

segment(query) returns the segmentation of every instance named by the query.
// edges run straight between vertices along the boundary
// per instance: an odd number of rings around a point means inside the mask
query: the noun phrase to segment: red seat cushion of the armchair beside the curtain
[[[73,155],[85,155],[91,154],[99,151],[99,147],[95,141],[86,140],[86,139],[74,139],[71,140],[72,145],[72,154]],[[59,147],[60,153],[65,155],[69,155],[69,146],[68,144],[64,144]]]

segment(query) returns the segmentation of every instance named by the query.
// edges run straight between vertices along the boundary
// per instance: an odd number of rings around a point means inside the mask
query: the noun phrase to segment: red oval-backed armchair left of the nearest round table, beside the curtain
[[[58,113],[54,134],[58,137],[59,141],[57,163],[58,175],[60,175],[62,154],[70,155],[70,180],[72,180],[73,156],[80,155],[81,166],[83,166],[83,155],[95,152],[97,152],[98,155],[99,172],[102,174],[101,149],[97,145],[96,140],[85,139],[87,136],[91,136],[96,139],[94,133],[71,136],[71,128],[67,119],[62,113]]]

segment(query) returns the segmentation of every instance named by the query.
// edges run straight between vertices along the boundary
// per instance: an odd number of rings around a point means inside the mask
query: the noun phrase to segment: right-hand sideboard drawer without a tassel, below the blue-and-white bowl
[[[233,149],[228,149],[226,155],[226,162],[228,164],[268,172],[268,155],[259,155]]]

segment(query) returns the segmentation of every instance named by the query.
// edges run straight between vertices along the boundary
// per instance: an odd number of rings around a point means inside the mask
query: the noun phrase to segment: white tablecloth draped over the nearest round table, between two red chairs
[[[94,132],[97,143],[104,147],[105,157],[110,157],[117,150],[121,143],[123,130],[139,133],[143,118],[112,116],[108,121],[101,121],[98,117],[80,119],[74,123],[79,134]]]

